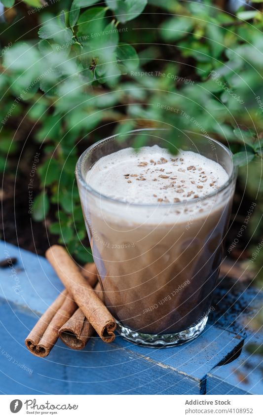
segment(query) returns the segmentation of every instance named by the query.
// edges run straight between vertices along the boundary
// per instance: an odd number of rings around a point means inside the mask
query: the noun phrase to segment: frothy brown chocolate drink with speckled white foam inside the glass
[[[105,304],[123,326],[173,334],[206,318],[232,203],[227,181],[217,162],[156,145],[106,155],[88,171],[101,198],[83,207],[86,226]]]

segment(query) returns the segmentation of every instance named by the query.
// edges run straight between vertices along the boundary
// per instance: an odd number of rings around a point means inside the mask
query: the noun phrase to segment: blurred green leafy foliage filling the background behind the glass
[[[86,262],[78,156],[113,133],[172,126],[234,153],[227,256],[263,280],[262,29],[260,0],[1,0],[2,238],[40,254],[59,241]]]

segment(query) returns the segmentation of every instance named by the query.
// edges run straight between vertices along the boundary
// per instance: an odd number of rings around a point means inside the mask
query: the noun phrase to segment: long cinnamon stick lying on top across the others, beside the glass
[[[46,258],[101,339],[113,342],[116,323],[112,314],[85,281],[66,250],[62,246],[51,246],[46,251]]]

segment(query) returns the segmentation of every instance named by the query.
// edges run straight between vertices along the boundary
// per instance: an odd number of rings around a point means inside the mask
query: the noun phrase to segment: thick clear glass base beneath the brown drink
[[[206,315],[198,324],[189,327],[189,329],[182,332],[170,333],[167,335],[150,335],[149,333],[136,332],[123,326],[120,322],[117,323],[117,332],[126,341],[136,343],[137,345],[163,347],[163,346],[176,346],[189,342],[202,333],[205,328],[208,315]]]

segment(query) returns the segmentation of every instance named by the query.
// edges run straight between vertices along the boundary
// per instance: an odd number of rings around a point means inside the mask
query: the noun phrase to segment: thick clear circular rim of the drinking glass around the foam
[[[106,141],[109,141],[111,139],[114,141],[114,139],[118,136],[126,135],[126,134],[133,134],[133,133],[142,132],[142,131],[168,131],[168,129],[167,128],[138,128],[138,129],[134,129],[134,130],[131,130],[131,131],[127,131],[125,133],[110,135],[109,137],[103,138],[102,140],[99,140],[96,143],[92,144],[90,147],[88,147],[80,155],[80,157],[78,158],[77,163],[76,163],[75,174],[76,174],[77,180],[80,182],[81,186],[83,188],[85,188],[89,193],[94,195],[95,197],[110,201],[112,203],[129,205],[129,206],[132,206],[132,207],[139,207],[139,208],[142,208],[142,207],[151,207],[151,208],[158,207],[158,208],[160,208],[160,203],[158,203],[158,204],[155,204],[155,203],[154,204],[132,203],[132,202],[127,202],[127,201],[122,201],[120,199],[114,199],[114,198],[111,198],[110,196],[104,195],[103,193],[100,193],[97,190],[91,188],[87,184],[86,180],[83,178],[82,173],[81,173],[82,162],[83,162],[85,156],[88,153],[90,153],[94,147],[96,147],[96,146],[98,146],[98,145],[100,145],[100,144],[102,144]],[[234,166],[234,164],[233,164],[233,158],[232,158],[233,153],[227,147],[225,147],[224,144],[220,143],[217,140],[214,140],[213,138],[211,138],[207,135],[199,134],[199,133],[194,132],[194,131],[185,130],[184,132],[188,133],[188,134],[199,135],[200,137],[206,138],[208,140],[212,140],[214,143],[218,144],[218,146],[222,147],[222,149],[224,149],[225,152],[227,152],[227,154],[230,156],[230,158],[232,160],[232,171],[231,171],[231,174],[229,175],[229,178],[228,178],[227,182],[225,182],[225,184],[222,185],[219,189],[217,189],[217,190],[215,190],[211,193],[208,193],[207,195],[198,197],[198,198],[188,199],[185,202],[162,202],[161,208],[167,208],[167,207],[171,208],[171,207],[176,207],[176,206],[178,207],[178,206],[183,205],[183,204],[189,205],[189,204],[194,203],[196,201],[203,201],[205,199],[209,199],[209,198],[217,195],[218,193],[222,192],[223,190],[225,190],[233,182],[233,180],[236,178],[236,175],[237,175],[237,167]]]

